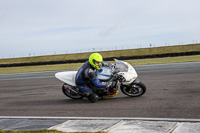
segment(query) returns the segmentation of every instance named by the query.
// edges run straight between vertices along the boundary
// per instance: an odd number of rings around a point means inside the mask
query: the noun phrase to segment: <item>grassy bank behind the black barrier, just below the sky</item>
[[[114,50],[114,51],[102,51],[102,52],[99,52],[99,53],[102,54],[102,56],[104,58],[106,58],[106,57],[139,56],[139,55],[152,55],[152,54],[190,52],[190,51],[200,51],[200,44],[188,44],[188,45],[156,47],[156,48]],[[91,54],[91,52],[78,53],[78,54],[62,54],[62,55],[49,55],[49,56],[0,59],[0,64],[87,59],[90,54]]]

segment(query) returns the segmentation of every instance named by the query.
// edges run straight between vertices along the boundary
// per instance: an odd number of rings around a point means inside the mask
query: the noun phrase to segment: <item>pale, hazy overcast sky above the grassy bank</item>
[[[0,58],[200,42],[199,0],[0,0]]]

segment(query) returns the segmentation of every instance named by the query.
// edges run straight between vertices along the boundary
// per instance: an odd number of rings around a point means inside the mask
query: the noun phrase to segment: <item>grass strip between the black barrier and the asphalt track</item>
[[[131,65],[163,64],[200,61],[200,55],[168,58],[124,60]],[[0,74],[79,69],[83,63],[0,68]]]

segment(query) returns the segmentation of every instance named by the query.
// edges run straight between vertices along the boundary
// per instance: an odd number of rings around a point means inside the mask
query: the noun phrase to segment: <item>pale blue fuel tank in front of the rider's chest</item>
[[[97,77],[99,80],[107,81],[112,77],[112,71],[108,67],[101,67],[101,70],[97,70]]]

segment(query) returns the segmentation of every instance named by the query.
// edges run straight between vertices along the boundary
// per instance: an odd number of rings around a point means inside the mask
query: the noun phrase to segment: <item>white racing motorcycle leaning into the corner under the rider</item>
[[[114,59],[115,63],[111,67],[102,66],[96,71],[97,77],[101,82],[114,82],[110,88],[97,89],[93,91],[99,97],[108,98],[116,96],[121,90],[127,96],[139,97],[146,92],[146,86],[138,79],[138,74],[129,63]],[[76,87],[75,78],[78,71],[57,72],[55,77],[64,82],[63,93],[72,99],[82,99],[84,95]]]

